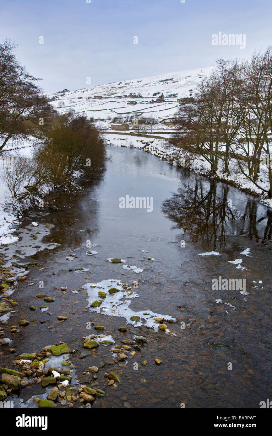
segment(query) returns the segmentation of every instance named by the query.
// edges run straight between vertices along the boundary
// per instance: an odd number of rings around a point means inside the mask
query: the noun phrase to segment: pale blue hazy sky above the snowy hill
[[[0,17],[0,40],[19,44],[46,91],[206,67],[272,42],[271,0],[1,0]],[[219,32],[245,34],[246,47],[212,45]]]

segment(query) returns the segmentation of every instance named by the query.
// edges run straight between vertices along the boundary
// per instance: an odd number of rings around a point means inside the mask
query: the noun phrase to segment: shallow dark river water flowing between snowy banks
[[[105,396],[93,407],[259,407],[272,397],[272,210],[254,196],[179,170],[142,150],[111,146],[107,155],[101,181],[76,199],[63,198],[61,210],[24,221],[21,231],[29,229],[30,239],[47,229],[42,244],[52,250],[40,244],[31,255],[22,242],[7,249],[7,254],[13,249],[19,264],[34,261],[39,266],[28,268],[28,279],[18,283],[12,295],[17,313],[1,327],[13,340],[10,346],[16,354],[1,346],[1,366],[10,365],[20,353],[63,341],[76,350],[69,360],[80,383],[90,380],[90,374],[83,375],[88,367],[99,368],[91,385],[103,389]],[[119,198],[126,195],[153,198],[153,211],[120,208]],[[31,221],[39,226],[33,228]],[[86,255],[89,250],[97,254]],[[201,255],[210,252],[219,254]],[[72,261],[67,259],[71,255],[76,256]],[[111,263],[109,258],[125,262]],[[245,286],[214,289],[214,279],[220,277],[241,279]],[[120,292],[107,297],[104,309],[88,307],[97,299],[92,294],[96,291],[83,286],[108,279],[127,284],[133,294],[123,301]],[[135,280],[138,287],[132,285]],[[35,284],[28,286],[29,281]],[[62,286],[67,290],[61,291]],[[29,310],[45,304],[36,298],[41,292],[55,298],[48,303],[50,314]],[[135,323],[131,311],[149,315]],[[155,314],[164,317],[166,332],[157,325],[152,328]],[[58,315],[68,319],[58,321]],[[20,317],[30,324],[8,333]],[[175,321],[167,322],[167,317]],[[135,332],[145,336],[146,344],[140,350],[131,344],[135,354],[128,352],[120,363],[112,360],[111,347],[101,344],[79,358],[85,350],[83,337],[97,333],[89,322],[104,326],[114,345],[122,340],[134,343]],[[124,326],[127,332],[121,333],[118,328]],[[155,358],[162,363],[155,364]],[[108,386],[103,377],[110,371],[121,380],[117,387]],[[43,389],[35,383],[21,389],[20,404],[36,407],[28,400],[42,395]],[[81,405],[76,402],[74,407]]]

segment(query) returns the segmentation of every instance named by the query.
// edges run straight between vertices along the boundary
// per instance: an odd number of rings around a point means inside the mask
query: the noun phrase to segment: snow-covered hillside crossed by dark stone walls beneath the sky
[[[211,70],[212,67],[194,68],[176,73],[122,80],[94,88],[50,92],[46,95],[50,99],[55,98],[52,105],[59,112],[74,109],[76,112],[85,112],[89,118],[105,121],[109,117],[141,115],[152,116],[162,121],[175,115],[177,99],[189,97],[196,85]],[[165,102],[156,102],[161,94],[164,95]],[[136,104],[129,104],[131,101]]]

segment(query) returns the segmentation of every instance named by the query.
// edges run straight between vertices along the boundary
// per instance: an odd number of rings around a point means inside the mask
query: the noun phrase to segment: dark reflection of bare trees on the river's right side
[[[271,239],[272,210],[257,198],[213,180],[196,176],[192,183],[188,174],[182,178],[178,192],[162,203],[162,212],[193,242],[205,242],[211,250],[219,250],[231,249],[231,236],[262,243]]]

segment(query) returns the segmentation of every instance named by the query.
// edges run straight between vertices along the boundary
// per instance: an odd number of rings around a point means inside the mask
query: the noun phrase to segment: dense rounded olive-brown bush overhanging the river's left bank
[[[33,159],[41,170],[46,168],[48,181],[55,186],[71,180],[77,172],[93,178],[103,169],[105,149],[93,123],[69,112],[54,117],[44,141],[35,147]]]

